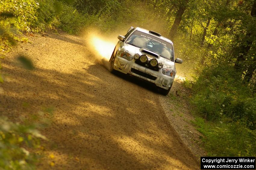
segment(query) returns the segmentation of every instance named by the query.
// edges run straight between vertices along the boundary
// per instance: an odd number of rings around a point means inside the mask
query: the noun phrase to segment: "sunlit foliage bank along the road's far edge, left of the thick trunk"
[[[11,48],[22,36],[21,31],[40,32],[48,28],[78,34],[85,27],[97,26],[110,32],[133,25],[166,35],[168,32],[167,22],[158,13],[148,15],[154,9],[141,1],[9,0],[0,4],[2,50]]]

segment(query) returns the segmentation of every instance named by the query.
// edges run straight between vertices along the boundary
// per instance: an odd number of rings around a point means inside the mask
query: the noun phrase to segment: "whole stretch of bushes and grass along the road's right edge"
[[[255,96],[235,74],[230,66],[206,67],[182,83],[208,156],[256,155]]]

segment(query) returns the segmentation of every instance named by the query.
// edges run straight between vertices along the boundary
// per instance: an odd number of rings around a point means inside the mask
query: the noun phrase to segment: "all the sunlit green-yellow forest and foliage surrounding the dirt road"
[[[130,26],[172,40],[190,75],[181,84],[208,156],[255,156],[256,0],[0,0],[0,68],[17,43],[31,43],[29,34],[108,35]],[[33,69],[26,57],[19,60]],[[40,128],[0,122],[0,167],[35,168],[40,158],[27,150],[46,140]]]

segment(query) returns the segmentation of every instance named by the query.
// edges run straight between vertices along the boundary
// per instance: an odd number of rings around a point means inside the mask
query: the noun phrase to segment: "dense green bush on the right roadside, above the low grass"
[[[248,128],[256,128],[256,97],[233,67],[205,67],[191,88],[194,93],[191,103],[207,120],[241,119]]]

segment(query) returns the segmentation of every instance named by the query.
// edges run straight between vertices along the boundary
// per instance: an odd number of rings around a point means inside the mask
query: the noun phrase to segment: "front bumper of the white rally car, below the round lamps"
[[[133,76],[139,77],[148,82],[154,83],[160,88],[168,90],[173,83],[173,77],[164,75],[161,70],[154,71],[146,67],[140,66],[135,63],[135,59],[128,61],[123,57],[116,56],[114,61],[114,70],[120,71],[124,74],[131,74]]]

